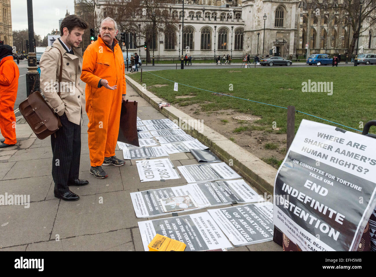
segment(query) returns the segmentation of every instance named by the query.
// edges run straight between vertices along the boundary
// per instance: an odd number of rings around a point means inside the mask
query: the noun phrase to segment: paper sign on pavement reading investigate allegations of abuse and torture
[[[208,210],[235,246],[273,240],[273,204],[262,202]]]

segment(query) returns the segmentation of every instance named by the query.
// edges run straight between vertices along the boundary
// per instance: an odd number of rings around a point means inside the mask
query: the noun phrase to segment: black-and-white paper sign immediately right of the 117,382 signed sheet
[[[177,168],[188,183],[241,178],[226,163],[191,164],[189,166],[178,166]]]

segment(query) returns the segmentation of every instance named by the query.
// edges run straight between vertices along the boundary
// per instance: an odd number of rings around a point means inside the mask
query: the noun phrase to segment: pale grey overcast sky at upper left
[[[65,13],[74,14],[73,0],[33,0],[34,32],[43,39],[52,29],[59,29]],[[27,29],[26,0],[11,0],[12,30]]]

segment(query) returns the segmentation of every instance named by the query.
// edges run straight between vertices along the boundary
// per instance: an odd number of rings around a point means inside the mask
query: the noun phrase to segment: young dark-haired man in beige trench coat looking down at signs
[[[88,24],[76,15],[68,15],[60,25],[61,37],[46,48],[41,56],[41,91],[59,115],[62,127],[51,135],[52,178],[56,198],[76,201],[80,197],[69,190],[68,186],[85,186],[89,182],[79,179],[81,156],[81,114],[83,86],[79,85],[82,68],[82,49],[76,48],[82,41],[82,35]],[[59,80],[62,55],[62,78],[59,86],[60,97],[56,90]]]

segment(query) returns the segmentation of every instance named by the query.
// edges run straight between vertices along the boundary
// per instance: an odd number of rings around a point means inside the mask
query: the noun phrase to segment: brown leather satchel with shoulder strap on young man
[[[56,48],[56,47],[55,47]],[[56,48],[58,49],[58,48]],[[60,97],[60,83],[63,72],[63,55],[60,52],[60,72],[59,72],[59,88],[58,95]],[[36,81],[36,78],[35,78]],[[61,128],[61,122],[58,114],[49,106],[42,94],[39,91],[34,91],[35,81],[31,94],[19,106],[21,114],[29,123],[31,129],[38,139],[45,139],[46,137],[54,134]]]

